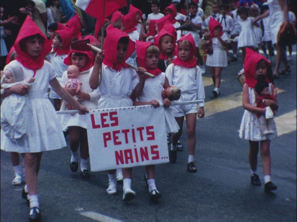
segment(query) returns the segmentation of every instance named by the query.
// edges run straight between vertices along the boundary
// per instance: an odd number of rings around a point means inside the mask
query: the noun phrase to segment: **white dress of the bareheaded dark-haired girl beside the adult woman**
[[[238,47],[255,47],[257,48],[256,35],[253,30],[253,21],[254,19],[248,17],[246,20],[239,18],[239,24],[241,25],[241,32],[238,37]]]

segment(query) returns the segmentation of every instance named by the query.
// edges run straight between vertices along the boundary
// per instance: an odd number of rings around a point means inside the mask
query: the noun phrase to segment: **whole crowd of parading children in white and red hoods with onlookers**
[[[289,11],[290,2],[152,0],[146,3],[151,11],[144,12],[137,4],[128,3],[101,26],[67,0],[48,0],[46,4],[41,0],[26,0],[15,15],[4,20],[6,8],[1,5],[1,70],[4,68],[1,150],[11,155],[15,171],[12,184],[23,184],[25,177],[22,197],[30,205],[30,221],[41,218],[37,175],[42,152],[65,147],[67,133],[71,171],[78,171],[80,162],[82,177],[90,177],[87,123],[83,115],[89,109],[163,104],[164,137],[168,138],[170,162],[175,163],[177,151],[183,150],[179,138],[186,119],[187,171],[195,173],[196,118],[204,117],[204,57],[216,98],[221,94],[222,69],[230,62],[238,62],[238,49],[243,56],[240,72],[245,76],[245,111],[239,137],[249,141],[251,183],[261,185],[256,171],[260,144],[264,190],[277,189],[270,178],[269,147],[270,140],[277,136],[273,115],[278,109],[278,88],[273,82],[279,74],[291,72],[287,60],[292,59],[291,44],[296,41],[296,18]],[[164,10],[160,10],[161,6]],[[281,27],[291,28],[295,41],[283,43]],[[17,35],[11,38],[14,43],[10,46],[5,37],[13,33]],[[97,53],[71,47],[84,40],[102,50]],[[273,47],[277,49],[274,70],[270,61]],[[264,55],[259,54],[260,48]],[[279,72],[281,62],[284,69]],[[138,68],[134,70],[128,64]],[[155,78],[146,76],[145,72]],[[200,103],[170,106],[173,100]],[[59,110],[80,113],[58,117],[55,111]],[[107,173],[108,195],[117,194],[118,182],[123,181],[123,201],[135,197],[131,188],[132,168]],[[154,165],[145,167],[144,180],[150,198],[156,202],[161,193],[155,183]]]

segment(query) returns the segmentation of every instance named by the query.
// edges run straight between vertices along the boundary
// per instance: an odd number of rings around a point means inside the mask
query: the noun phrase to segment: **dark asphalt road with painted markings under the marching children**
[[[275,85],[279,111],[276,117],[279,137],[271,142],[272,181],[278,186],[264,193],[264,186],[250,184],[248,141],[238,137],[243,114],[242,88],[237,72],[242,63],[231,63],[222,72],[221,93],[212,98],[209,69],[204,75],[206,116],[197,120],[196,166],[187,166],[187,136],[181,142],[176,164],[156,167],[156,184],[162,193],[158,204],[149,200],[144,167],[133,170],[132,188],[136,198],[122,201],[118,195],[105,194],[108,177],[92,172],[89,179],[69,169],[70,149],[45,152],[38,176],[38,191],[43,222],[182,222],[182,221],[296,221],[296,47],[290,62],[292,73],[281,76]],[[272,60],[275,61],[275,58]],[[185,129],[184,129],[185,132]],[[261,158],[258,174],[262,184]],[[23,186],[12,186],[13,169],[9,154],[1,151],[1,221],[27,221],[29,208],[21,198]]]

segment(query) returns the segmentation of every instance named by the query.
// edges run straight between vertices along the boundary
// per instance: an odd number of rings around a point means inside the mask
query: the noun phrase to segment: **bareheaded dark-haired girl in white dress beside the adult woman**
[[[238,37],[238,48],[242,51],[242,60],[245,58],[245,48],[248,47],[252,50],[257,48],[256,35],[253,30],[253,21],[248,17],[248,8],[241,7],[237,11],[239,14],[239,24],[241,25],[241,32]]]

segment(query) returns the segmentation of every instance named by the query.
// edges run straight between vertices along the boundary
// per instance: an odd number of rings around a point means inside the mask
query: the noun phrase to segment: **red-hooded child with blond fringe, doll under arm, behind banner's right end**
[[[155,108],[160,106],[162,102],[165,107],[166,131],[167,133],[178,132],[179,126],[176,123],[171,110],[168,108],[171,101],[168,98],[162,98],[161,94],[164,88],[169,87],[168,79],[164,72],[157,68],[159,49],[153,43],[136,42],[137,62],[139,66],[144,67],[149,73],[152,73],[155,78],[147,78],[144,83],[142,93],[136,98],[133,98],[133,105],[153,105]],[[157,86],[157,87],[156,87]],[[153,90],[152,90],[153,89]],[[164,137],[166,132],[164,132]],[[160,192],[155,185],[155,165],[145,166],[146,176],[144,180],[148,184],[150,198],[157,201],[161,197]]]

